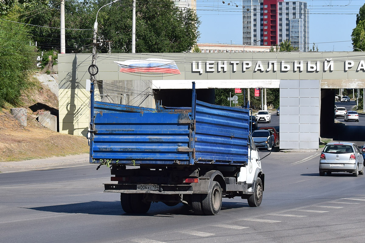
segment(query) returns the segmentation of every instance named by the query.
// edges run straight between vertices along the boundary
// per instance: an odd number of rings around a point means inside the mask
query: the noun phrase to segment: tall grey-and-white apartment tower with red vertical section
[[[307,3],[283,0],[243,0],[243,44],[275,46],[290,40],[300,51],[309,50]]]

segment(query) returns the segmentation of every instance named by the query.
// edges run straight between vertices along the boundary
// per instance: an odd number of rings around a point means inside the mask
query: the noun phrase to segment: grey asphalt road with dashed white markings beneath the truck
[[[261,206],[223,199],[216,216],[163,203],[128,215],[119,193],[103,193],[106,166],[0,173],[0,242],[364,242],[365,176],[319,177],[318,161],[319,152],[270,154]]]

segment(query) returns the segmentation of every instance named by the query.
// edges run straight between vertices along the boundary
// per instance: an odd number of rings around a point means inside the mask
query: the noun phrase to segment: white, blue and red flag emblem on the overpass
[[[115,63],[120,67],[120,72],[180,74],[180,70],[173,60],[148,58],[146,60],[131,59]]]

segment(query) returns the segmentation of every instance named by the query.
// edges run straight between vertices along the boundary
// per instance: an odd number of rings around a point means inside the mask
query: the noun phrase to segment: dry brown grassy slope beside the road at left
[[[23,95],[23,104],[16,108],[27,108],[27,126],[21,126],[10,114],[6,105],[0,111],[0,161],[20,161],[33,158],[66,156],[88,153],[89,147],[85,137],[61,134],[45,128],[36,120],[39,111],[33,112],[29,107],[36,103],[58,109],[57,97],[34,80],[35,87]]]

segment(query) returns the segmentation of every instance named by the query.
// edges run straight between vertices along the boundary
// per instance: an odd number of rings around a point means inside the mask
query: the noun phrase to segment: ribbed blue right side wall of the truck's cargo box
[[[249,110],[196,101],[197,163],[245,165]]]

